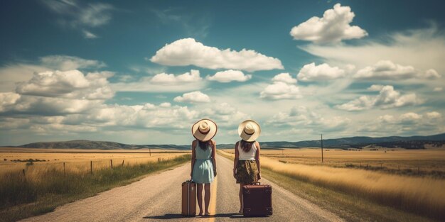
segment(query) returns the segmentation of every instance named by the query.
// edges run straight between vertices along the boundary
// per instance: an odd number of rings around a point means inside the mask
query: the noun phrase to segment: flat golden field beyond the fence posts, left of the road
[[[110,160],[114,167],[122,165],[122,161],[124,165],[139,165],[159,160],[171,160],[186,153],[190,151],[0,148],[0,176],[8,172],[22,172],[23,169],[30,173],[43,169],[63,170],[63,162],[65,162],[66,172],[90,172],[90,161],[92,161],[94,172],[111,167]],[[33,161],[33,165],[28,166],[24,160],[29,159],[40,161]]]

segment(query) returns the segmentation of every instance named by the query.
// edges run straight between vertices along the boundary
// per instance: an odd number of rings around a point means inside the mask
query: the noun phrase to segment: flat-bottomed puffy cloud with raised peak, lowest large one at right
[[[390,109],[394,107],[409,106],[421,103],[416,94],[400,95],[399,91],[395,91],[392,86],[372,85],[372,91],[380,89],[377,96],[360,96],[358,99],[349,101],[348,103],[336,106],[338,109],[346,111],[360,111],[380,107],[382,109]]]

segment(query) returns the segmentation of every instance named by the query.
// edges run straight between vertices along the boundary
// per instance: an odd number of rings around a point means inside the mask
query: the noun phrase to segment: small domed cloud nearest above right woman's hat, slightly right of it
[[[274,82],[259,94],[259,98],[263,99],[300,99],[301,97],[299,87],[284,82]]]

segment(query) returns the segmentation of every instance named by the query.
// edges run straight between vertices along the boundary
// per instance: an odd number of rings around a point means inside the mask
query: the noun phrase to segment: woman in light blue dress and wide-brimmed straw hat
[[[192,142],[191,177],[197,184],[197,197],[199,216],[203,215],[203,184],[205,215],[210,215],[208,205],[210,204],[210,183],[216,177],[216,143],[212,138],[216,135],[218,126],[210,119],[202,119],[192,126],[192,134],[196,140]]]

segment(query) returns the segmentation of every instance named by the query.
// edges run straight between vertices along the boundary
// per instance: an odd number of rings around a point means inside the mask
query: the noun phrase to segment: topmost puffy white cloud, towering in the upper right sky
[[[308,21],[294,26],[290,34],[295,40],[314,43],[336,43],[368,35],[362,28],[350,26],[354,16],[349,6],[336,4],[333,9],[328,9],[323,13],[323,18],[313,16]]]

